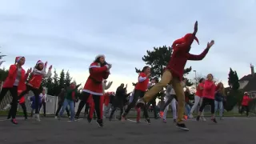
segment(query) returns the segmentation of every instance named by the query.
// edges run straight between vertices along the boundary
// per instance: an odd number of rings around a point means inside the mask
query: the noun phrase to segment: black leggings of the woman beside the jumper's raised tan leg
[[[142,98],[145,94],[145,91],[142,90],[134,90],[134,98],[133,101],[129,103],[129,105],[127,106],[126,110],[125,110],[125,114],[128,114],[130,109],[132,109],[136,102],[138,102],[138,98]],[[144,110],[144,117],[145,118],[150,118],[148,111],[147,111],[147,106],[143,106],[143,110]]]

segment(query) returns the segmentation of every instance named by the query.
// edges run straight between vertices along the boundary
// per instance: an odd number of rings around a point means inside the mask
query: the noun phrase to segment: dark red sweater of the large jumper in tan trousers
[[[188,35],[188,34],[187,34]],[[178,77],[180,81],[182,81],[182,76],[184,74],[184,67],[186,65],[187,60],[202,60],[205,58],[206,54],[208,53],[209,49],[206,49],[202,52],[202,54],[194,55],[190,54],[190,46],[192,42],[194,41],[194,34],[190,34],[190,37],[185,38],[186,42],[179,44],[178,46],[173,46],[174,51],[173,54],[171,54],[170,61],[168,62],[168,65],[166,66],[167,70],[171,70],[172,75],[174,77]]]

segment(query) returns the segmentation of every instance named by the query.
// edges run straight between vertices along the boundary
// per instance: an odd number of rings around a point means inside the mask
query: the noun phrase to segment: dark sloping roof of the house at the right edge
[[[245,75],[242,77],[239,82],[248,81],[248,84],[243,88],[245,91],[256,90],[256,74],[253,76],[252,74]]]

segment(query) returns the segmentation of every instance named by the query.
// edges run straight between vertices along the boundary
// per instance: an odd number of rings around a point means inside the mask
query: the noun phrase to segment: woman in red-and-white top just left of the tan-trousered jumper
[[[144,66],[142,72],[138,76],[138,83],[134,89],[134,97],[133,101],[127,106],[125,112],[122,114],[122,121],[126,120],[126,115],[129,113],[130,109],[133,108],[138,101],[138,98],[142,98],[148,88],[150,77],[150,66]],[[146,122],[150,124],[150,117],[148,115],[148,111],[146,106],[144,106],[144,117],[146,118]]]

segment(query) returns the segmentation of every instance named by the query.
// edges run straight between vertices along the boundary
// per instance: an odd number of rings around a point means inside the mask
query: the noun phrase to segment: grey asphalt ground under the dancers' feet
[[[186,122],[190,131],[178,130],[171,119],[163,123],[161,119],[152,119],[151,125],[142,122],[137,124],[130,119],[126,122],[105,120],[105,127],[98,127],[95,121],[90,124],[86,119],[78,122],[58,121],[54,118],[42,118],[42,122],[34,119],[24,121],[18,118],[18,125],[0,118],[1,144],[250,144],[256,142],[256,118],[225,118],[218,124]]]

